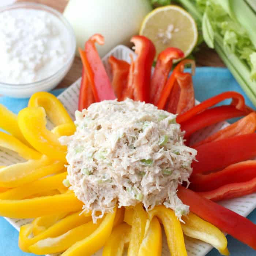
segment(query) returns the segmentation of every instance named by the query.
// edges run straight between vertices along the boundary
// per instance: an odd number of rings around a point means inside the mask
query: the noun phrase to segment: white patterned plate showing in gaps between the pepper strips
[[[129,54],[133,54],[135,56],[134,52],[129,48],[127,48],[126,46],[118,45],[103,58],[103,63],[105,65],[106,71],[110,76],[110,78],[111,78],[111,70],[110,70],[110,65],[108,63],[108,57],[110,55],[114,55],[118,59],[122,59],[130,62]],[[68,87],[68,89],[65,90],[58,97],[60,101],[63,103],[63,105],[65,106],[65,108],[68,110],[69,114],[73,119],[75,118],[74,113],[78,106],[79,87],[80,87],[80,79],[78,79],[74,84]],[[222,122],[222,123],[213,125],[211,127],[207,127],[206,129],[203,129],[197,132],[193,136],[192,140],[197,141],[197,140],[204,139],[206,138],[206,136],[218,131],[219,129],[227,125],[228,123]],[[24,159],[20,158],[16,153],[0,148],[0,165],[10,165],[12,163],[17,163],[20,161],[24,161]],[[248,196],[239,197],[237,199],[222,201],[220,202],[220,204],[246,217],[252,210],[256,208],[256,193],[253,193]],[[20,226],[30,222],[30,220],[27,220],[27,219],[23,220],[23,219],[6,218],[6,220],[10,222],[11,225],[14,226],[17,230],[19,230]],[[204,242],[195,240],[193,238],[188,238],[188,237],[185,237],[185,244],[186,244],[186,248],[189,256],[192,256],[192,255],[204,256],[206,255],[206,253],[208,253],[212,249],[211,245],[208,245]],[[55,254],[55,255],[60,255],[60,254]],[[101,252],[95,253],[95,256],[96,255],[101,256]],[[162,255],[163,256],[170,255],[165,239],[163,239]]]

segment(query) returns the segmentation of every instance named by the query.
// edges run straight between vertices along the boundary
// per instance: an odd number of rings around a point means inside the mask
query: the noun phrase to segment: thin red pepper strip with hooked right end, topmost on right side
[[[221,93],[212,98],[209,98],[206,101],[203,101],[200,104],[196,105],[194,108],[190,109],[188,112],[177,116],[176,121],[179,124],[184,121],[187,121],[191,117],[195,116],[196,114],[203,112],[204,110],[229,98],[232,98],[231,105],[235,106],[237,110],[246,111],[244,97],[240,93],[236,93],[235,91],[227,91],[226,93]]]

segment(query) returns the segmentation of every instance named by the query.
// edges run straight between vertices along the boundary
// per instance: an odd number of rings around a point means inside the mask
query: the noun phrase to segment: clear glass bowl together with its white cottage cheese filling
[[[0,93],[25,98],[53,89],[75,48],[71,25],[53,8],[26,2],[0,8]]]

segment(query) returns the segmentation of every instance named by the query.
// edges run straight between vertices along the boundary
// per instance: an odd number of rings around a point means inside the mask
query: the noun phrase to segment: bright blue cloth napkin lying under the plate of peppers
[[[245,97],[246,105],[255,109],[248,97],[244,94],[239,84],[226,68],[202,67],[196,68],[196,75],[193,77],[195,96],[198,101],[203,101],[224,91],[237,91]],[[54,95],[59,95],[63,89],[54,90]],[[7,106],[14,113],[27,106],[28,99],[14,99],[0,97],[0,103]],[[256,210],[249,216],[252,222],[256,223]],[[255,234],[251,234],[255,236]],[[232,238],[227,236],[228,248],[231,256],[255,256],[256,252]],[[1,256],[31,256],[32,254],[20,251],[18,247],[18,232],[4,218],[0,218],[0,255]],[[219,255],[216,249],[212,249],[207,256]]]

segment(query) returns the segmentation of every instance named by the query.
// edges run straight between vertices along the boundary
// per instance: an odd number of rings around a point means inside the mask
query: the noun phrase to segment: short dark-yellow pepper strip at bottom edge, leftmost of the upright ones
[[[131,226],[122,223],[116,226],[103,247],[102,256],[123,256],[124,248],[130,241]]]

